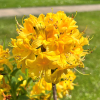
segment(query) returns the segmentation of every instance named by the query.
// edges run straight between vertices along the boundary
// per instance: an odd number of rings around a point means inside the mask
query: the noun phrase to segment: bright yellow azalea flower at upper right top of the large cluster
[[[78,26],[75,25],[76,21],[73,20],[73,18],[67,17],[63,11],[57,12],[57,19],[58,19],[57,26],[60,33],[71,32],[71,30],[78,28]]]

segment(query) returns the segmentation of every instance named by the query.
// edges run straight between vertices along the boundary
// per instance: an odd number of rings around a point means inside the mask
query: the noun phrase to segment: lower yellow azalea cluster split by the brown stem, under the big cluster
[[[66,97],[66,95],[69,94],[69,90],[74,89],[73,81],[76,78],[75,74],[70,69],[68,69],[67,74],[63,74],[62,76],[65,80],[62,80],[56,84],[58,99],[63,98],[64,96]],[[30,93],[30,99],[49,100],[51,98],[51,90],[52,84],[47,83],[44,78],[42,78],[33,86],[33,89]]]

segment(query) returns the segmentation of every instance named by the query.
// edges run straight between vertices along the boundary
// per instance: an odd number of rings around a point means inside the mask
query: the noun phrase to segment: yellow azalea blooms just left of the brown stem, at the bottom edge
[[[30,94],[31,100],[34,98],[47,100],[50,97],[50,93],[46,94],[46,91],[51,91],[52,85],[51,83],[47,83],[44,78],[42,78],[39,82],[36,82],[33,86],[33,89]],[[42,95],[40,95],[42,94]]]

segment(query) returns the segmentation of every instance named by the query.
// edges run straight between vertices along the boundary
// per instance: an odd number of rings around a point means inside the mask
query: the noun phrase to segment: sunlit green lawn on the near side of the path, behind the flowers
[[[17,19],[21,23],[21,18]],[[85,76],[76,72],[77,78],[74,83],[78,83],[78,86],[75,86],[75,89],[70,92],[72,98],[67,100],[100,100],[100,11],[78,13],[75,20],[80,31],[83,31],[87,26],[86,35],[94,36],[90,41],[89,48],[96,47],[96,49],[86,56],[85,68],[79,69],[83,73],[91,74]],[[15,24],[13,17],[0,19],[0,44],[3,43],[2,39],[5,36],[6,44],[11,37],[15,38],[17,35]]]

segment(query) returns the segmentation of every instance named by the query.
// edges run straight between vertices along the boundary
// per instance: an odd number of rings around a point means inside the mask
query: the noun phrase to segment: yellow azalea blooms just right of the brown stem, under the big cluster
[[[67,74],[62,74],[61,77],[63,81],[56,84],[59,98],[63,98],[63,96],[68,94],[69,90],[74,89],[73,81],[76,78],[75,74],[70,69],[67,70]]]

